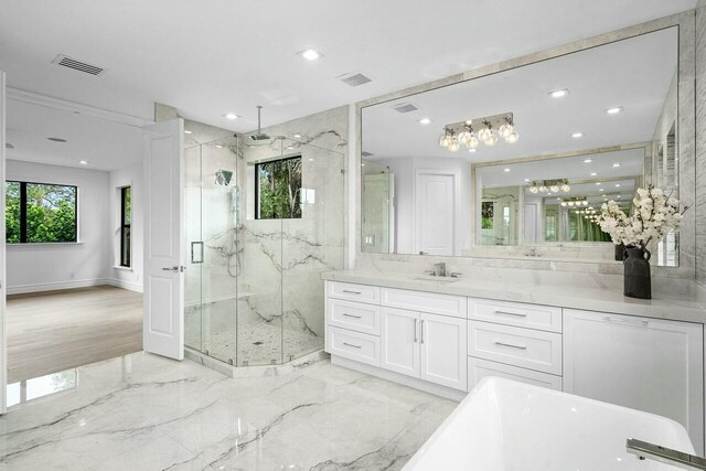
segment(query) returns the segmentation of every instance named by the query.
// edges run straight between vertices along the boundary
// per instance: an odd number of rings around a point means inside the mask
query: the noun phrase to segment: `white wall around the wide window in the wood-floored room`
[[[6,179],[78,186],[78,243],[8,244],[8,293],[107,282],[108,172],[8,160]]]

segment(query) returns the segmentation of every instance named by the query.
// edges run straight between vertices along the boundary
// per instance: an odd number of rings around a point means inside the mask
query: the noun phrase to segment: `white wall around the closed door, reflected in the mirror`
[[[393,158],[374,159],[375,162],[389,167],[395,175],[395,226],[397,254],[416,254],[415,251],[415,170],[437,169],[450,170],[459,179],[459,195],[457,224],[457,247],[461,255],[470,247],[472,240],[471,207],[473,202],[471,164],[461,159],[448,158]]]

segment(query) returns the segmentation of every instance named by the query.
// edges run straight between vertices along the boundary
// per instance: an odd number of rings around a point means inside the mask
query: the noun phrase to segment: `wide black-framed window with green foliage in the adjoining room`
[[[78,188],[6,182],[8,244],[78,242]]]

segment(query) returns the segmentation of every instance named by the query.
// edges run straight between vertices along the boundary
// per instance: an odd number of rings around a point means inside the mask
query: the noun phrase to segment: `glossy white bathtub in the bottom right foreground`
[[[403,471],[675,470],[628,453],[628,438],[694,453],[674,420],[486,377]]]

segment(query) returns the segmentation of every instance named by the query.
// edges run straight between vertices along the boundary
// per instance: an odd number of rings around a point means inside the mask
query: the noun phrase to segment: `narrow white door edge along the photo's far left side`
[[[0,221],[4,221],[4,73],[0,71]],[[8,332],[6,330],[6,257],[4,224],[0,224],[0,414],[4,414],[8,404]]]

